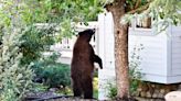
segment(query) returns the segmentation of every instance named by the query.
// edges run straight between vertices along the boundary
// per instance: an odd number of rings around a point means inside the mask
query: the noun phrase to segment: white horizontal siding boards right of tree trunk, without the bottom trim
[[[129,32],[129,52],[143,45],[143,49],[139,52],[141,72],[167,76],[167,35],[132,35],[134,32]]]

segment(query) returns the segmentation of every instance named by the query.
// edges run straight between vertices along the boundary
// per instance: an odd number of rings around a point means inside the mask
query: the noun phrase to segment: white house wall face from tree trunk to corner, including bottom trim
[[[138,69],[143,75],[142,80],[153,82],[167,82],[168,76],[168,58],[167,58],[167,34],[152,34],[145,32],[145,35],[135,34],[143,33],[142,31],[129,30],[129,61],[131,54],[135,53],[140,57]],[[134,52],[134,48],[139,48],[142,45],[143,49]]]

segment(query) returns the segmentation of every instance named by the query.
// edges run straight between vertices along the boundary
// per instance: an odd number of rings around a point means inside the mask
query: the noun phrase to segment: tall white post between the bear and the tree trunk
[[[98,99],[107,100],[107,85],[115,77],[114,63],[114,23],[111,13],[98,15],[98,55],[103,59],[103,69],[98,71]]]

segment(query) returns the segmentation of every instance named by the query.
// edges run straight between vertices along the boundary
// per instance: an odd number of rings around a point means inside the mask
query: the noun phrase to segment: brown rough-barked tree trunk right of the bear
[[[115,0],[114,3],[106,5],[114,18],[116,85],[117,98],[120,99],[129,97],[128,25],[120,23],[125,14],[124,4],[124,0]]]

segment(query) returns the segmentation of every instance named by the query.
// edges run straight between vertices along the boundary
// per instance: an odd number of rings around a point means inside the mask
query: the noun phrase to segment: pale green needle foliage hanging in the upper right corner
[[[136,2],[141,1],[139,8]],[[135,16],[145,19],[151,16],[153,25],[158,32],[166,30],[170,24],[179,25],[181,23],[181,2],[180,0],[127,0],[127,14],[120,20],[121,23],[130,22]],[[148,8],[143,8],[149,5]],[[131,11],[135,11],[130,14]]]

